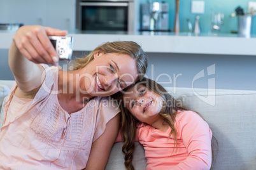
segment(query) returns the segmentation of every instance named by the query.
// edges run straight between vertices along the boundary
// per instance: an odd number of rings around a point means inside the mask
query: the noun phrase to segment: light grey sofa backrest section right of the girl
[[[256,167],[256,91],[197,89],[181,100],[203,115],[218,141],[213,169]]]

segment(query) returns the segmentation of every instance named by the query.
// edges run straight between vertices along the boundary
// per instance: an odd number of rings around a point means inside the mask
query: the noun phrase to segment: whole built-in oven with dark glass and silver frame
[[[77,0],[76,29],[134,30],[134,0]]]

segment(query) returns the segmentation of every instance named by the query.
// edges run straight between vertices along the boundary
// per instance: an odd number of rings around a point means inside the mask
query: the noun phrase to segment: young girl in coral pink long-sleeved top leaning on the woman
[[[122,94],[118,99],[127,169],[134,169],[136,138],[145,148],[146,169],[210,169],[212,133],[201,115],[150,79],[143,78]]]

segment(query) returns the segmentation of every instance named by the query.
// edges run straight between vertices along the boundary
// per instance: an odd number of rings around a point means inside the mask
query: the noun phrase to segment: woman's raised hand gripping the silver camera
[[[13,41],[20,53],[31,62],[57,65],[59,57],[48,36],[66,36],[66,34],[66,30],[29,25],[20,27],[13,36]]]

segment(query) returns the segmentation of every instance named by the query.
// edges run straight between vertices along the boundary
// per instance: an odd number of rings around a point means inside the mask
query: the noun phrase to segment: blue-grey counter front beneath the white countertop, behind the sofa
[[[73,57],[87,53],[75,51]],[[146,76],[164,87],[256,90],[255,56],[177,53],[147,55]],[[61,66],[64,64],[66,62],[60,62]],[[14,79],[8,66],[8,49],[0,49],[0,79]]]

